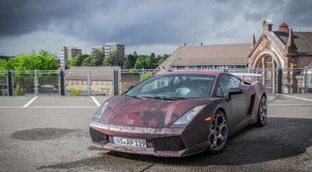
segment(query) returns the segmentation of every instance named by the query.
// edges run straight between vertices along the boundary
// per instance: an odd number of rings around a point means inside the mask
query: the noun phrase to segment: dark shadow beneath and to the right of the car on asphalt
[[[312,119],[268,118],[263,128],[249,126],[227,141],[216,155],[207,152],[187,157],[154,157],[110,151],[106,155],[130,160],[180,166],[244,165],[300,155],[312,146]],[[105,155],[103,155],[105,157]]]

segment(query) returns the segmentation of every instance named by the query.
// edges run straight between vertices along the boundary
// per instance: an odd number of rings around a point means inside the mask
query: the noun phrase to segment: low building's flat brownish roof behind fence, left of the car
[[[87,80],[88,69],[92,80],[112,80],[114,69],[121,70],[121,67],[70,67],[65,72],[67,80]]]

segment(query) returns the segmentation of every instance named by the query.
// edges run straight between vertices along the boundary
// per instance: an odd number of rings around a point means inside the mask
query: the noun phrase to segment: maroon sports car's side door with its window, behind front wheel
[[[229,89],[241,85],[241,80],[234,76],[221,76],[219,85],[229,108],[229,112],[227,112],[229,128],[232,128],[232,131],[239,130],[243,126],[243,121],[245,121],[248,112],[248,105],[246,105],[248,93],[232,95],[229,99]]]

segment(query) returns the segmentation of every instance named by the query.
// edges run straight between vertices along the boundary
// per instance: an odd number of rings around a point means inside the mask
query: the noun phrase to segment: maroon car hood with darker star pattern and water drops
[[[130,96],[109,98],[101,123],[118,126],[168,128],[196,105],[206,105],[208,98],[180,101],[138,99]]]

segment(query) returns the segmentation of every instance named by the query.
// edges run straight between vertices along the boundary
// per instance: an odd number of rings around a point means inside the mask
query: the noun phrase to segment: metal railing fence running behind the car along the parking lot
[[[177,71],[179,69],[169,69]],[[187,70],[187,69],[182,69]],[[211,69],[189,69],[211,70]],[[312,93],[312,69],[215,69],[227,71],[248,80],[259,80],[269,94]],[[103,95],[113,96],[125,92],[146,77],[166,70],[59,70],[59,71],[0,71],[2,95],[17,95],[20,89],[25,96]],[[168,71],[168,70],[167,70]],[[249,74],[249,75],[246,75]],[[250,75],[257,74],[257,75]],[[74,94],[73,94],[74,95]]]

